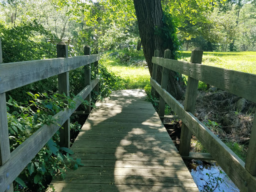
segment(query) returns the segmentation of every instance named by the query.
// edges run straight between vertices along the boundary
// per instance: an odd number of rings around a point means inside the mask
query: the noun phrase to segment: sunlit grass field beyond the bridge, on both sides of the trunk
[[[116,54],[108,56],[111,52],[103,55],[103,64],[127,81],[126,89],[144,88],[149,84],[150,75],[147,67],[129,65],[126,61],[117,58]],[[144,59],[143,51],[118,50],[117,52],[117,55],[129,55],[130,60]],[[181,52],[181,60],[189,61],[190,55],[191,51]],[[202,64],[256,74],[256,51],[203,52]]]

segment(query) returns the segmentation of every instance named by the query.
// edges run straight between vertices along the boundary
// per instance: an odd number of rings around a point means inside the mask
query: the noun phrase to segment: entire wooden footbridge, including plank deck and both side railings
[[[84,54],[67,57],[67,45],[60,43],[60,58],[0,64],[0,192],[13,191],[13,180],[57,130],[60,145],[69,147],[70,115],[82,100],[90,101],[92,89],[98,90],[99,79],[91,79],[90,63],[97,68],[99,55],[90,55],[87,46]],[[71,146],[73,157],[81,158],[84,166],[67,170],[64,180],[53,179],[56,192],[198,191],[182,158],[214,158],[240,191],[256,191],[256,120],[244,163],[193,115],[198,80],[256,102],[256,75],[201,65],[202,51],[192,51],[191,62],[168,55],[166,50],[161,58],[156,50],[152,57],[150,83],[152,94],[159,94],[158,114],[140,89],[113,91],[110,98],[96,102]],[[10,152],[5,92],[58,75],[59,93],[68,95],[68,71],[78,67],[84,67],[85,87],[74,98],[75,106],[55,114],[54,124],[44,124]],[[162,71],[161,83],[155,80],[157,67]],[[188,76],[184,106],[166,91],[169,70]],[[179,151],[162,124],[165,103],[182,120]],[[210,154],[189,152],[191,133]]]

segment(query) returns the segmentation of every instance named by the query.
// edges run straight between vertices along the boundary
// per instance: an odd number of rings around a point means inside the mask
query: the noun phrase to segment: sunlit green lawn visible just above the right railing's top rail
[[[183,51],[184,60],[190,60],[191,51]],[[202,64],[256,74],[256,51],[203,52]]]

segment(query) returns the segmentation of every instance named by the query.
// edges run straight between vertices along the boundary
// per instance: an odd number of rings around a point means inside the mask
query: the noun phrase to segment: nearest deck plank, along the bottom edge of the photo
[[[158,191],[164,191],[164,192],[198,192],[197,187],[175,187],[175,186],[152,186],[152,185],[143,185],[141,183],[140,185],[129,185],[129,184],[90,184],[87,183],[86,185],[82,183],[75,183],[72,185],[68,185],[66,183],[54,183],[54,188],[56,190],[54,191],[61,191],[61,192],[77,192],[77,191],[84,191],[84,188],[86,188],[87,191],[95,191],[95,192],[120,192],[120,191],[126,191],[126,192],[144,192],[144,191],[150,191],[150,192],[158,192]],[[53,191],[52,189],[48,189],[47,192]]]

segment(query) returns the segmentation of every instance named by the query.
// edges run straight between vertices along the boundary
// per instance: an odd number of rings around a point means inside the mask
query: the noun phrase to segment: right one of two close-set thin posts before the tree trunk
[[[163,57],[164,58],[170,58],[170,55],[171,55],[170,49],[166,49],[164,51],[164,56]],[[169,69],[167,69],[165,67],[162,67],[161,88],[164,88],[165,90],[167,89],[168,74],[169,74]],[[165,109],[165,101],[160,96],[160,98],[159,98],[159,111],[158,111],[159,116],[164,116],[164,109]],[[160,117],[160,119],[163,122],[163,117]]]

